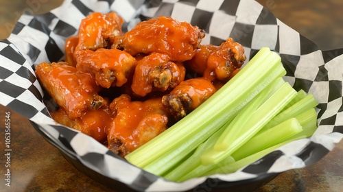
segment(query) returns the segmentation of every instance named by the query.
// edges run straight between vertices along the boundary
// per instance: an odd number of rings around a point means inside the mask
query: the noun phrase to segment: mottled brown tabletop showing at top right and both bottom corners
[[[343,47],[343,1],[259,0],[281,21],[320,49]],[[0,106],[0,149],[4,152],[5,112],[11,119],[11,187],[5,188],[5,156],[0,158],[0,191],[111,191],[75,169],[27,119]],[[256,191],[342,191],[343,141],[315,165],[281,173]],[[6,191],[7,191],[6,190]]]

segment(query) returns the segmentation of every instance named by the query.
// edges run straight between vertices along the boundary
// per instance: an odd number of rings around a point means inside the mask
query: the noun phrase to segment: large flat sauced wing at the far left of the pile
[[[77,71],[67,62],[43,62],[35,71],[40,84],[66,110],[71,119],[81,117],[86,110],[97,110],[104,98],[97,94],[97,86],[91,75]]]

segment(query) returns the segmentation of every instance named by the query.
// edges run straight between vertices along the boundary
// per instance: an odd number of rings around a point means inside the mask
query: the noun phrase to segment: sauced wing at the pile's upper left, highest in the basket
[[[123,19],[115,12],[102,14],[93,12],[82,19],[79,27],[78,50],[110,48],[115,42],[115,36],[123,34],[121,26]]]

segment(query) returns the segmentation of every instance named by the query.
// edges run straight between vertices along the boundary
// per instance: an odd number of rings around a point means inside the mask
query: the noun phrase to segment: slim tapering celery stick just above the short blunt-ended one
[[[290,106],[286,110],[283,110],[283,112],[280,112],[278,115],[276,115],[274,119],[272,119],[267,125],[265,125],[261,132],[274,127],[282,121],[285,121],[292,117],[296,117],[311,108],[315,108],[317,105],[318,102],[314,98],[314,95],[308,94],[303,99],[300,99],[300,101],[296,102],[294,105]]]

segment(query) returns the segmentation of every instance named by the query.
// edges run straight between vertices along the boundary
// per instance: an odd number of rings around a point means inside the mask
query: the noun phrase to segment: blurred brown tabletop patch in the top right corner
[[[343,48],[342,0],[257,0],[322,50]]]

